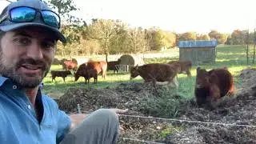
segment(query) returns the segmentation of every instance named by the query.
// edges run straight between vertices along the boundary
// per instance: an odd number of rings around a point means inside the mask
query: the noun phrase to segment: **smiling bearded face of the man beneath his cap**
[[[0,39],[0,74],[23,88],[34,88],[50,70],[56,38],[38,27],[7,32]]]

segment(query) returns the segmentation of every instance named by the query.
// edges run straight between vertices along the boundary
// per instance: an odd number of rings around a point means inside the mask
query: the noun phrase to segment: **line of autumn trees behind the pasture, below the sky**
[[[58,43],[57,54],[65,57],[85,54],[136,54],[150,50],[169,49],[178,46],[179,41],[217,40],[218,44],[250,45],[255,43],[254,32],[234,30],[232,34],[222,34],[211,30],[208,34],[186,32],[178,34],[158,27],[143,29],[130,28],[120,20],[94,18],[90,24],[70,15],[78,10],[72,0],[49,0],[62,16],[62,33],[67,43]]]

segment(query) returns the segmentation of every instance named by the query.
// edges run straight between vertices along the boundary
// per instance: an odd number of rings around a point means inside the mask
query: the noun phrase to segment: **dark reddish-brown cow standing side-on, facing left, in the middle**
[[[176,78],[178,70],[178,67],[162,63],[137,65],[130,68],[130,80],[139,75],[144,79],[144,82],[153,82],[154,86],[157,82],[168,82],[168,84],[172,82],[175,87],[178,87]]]

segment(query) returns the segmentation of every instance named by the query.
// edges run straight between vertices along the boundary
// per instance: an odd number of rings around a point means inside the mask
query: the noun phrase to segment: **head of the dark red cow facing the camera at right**
[[[198,67],[197,76],[195,80],[195,87],[200,89],[208,85],[209,82],[210,82],[210,74],[205,69],[201,69],[200,67]]]

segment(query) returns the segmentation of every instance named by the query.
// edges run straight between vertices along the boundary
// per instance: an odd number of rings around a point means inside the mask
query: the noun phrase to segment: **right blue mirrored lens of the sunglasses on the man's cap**
[[[59,27],[60,18],[54,12],[43,10],[42,18],[43,18],[43,21],[46,22],[46,24],[54,27]]]

